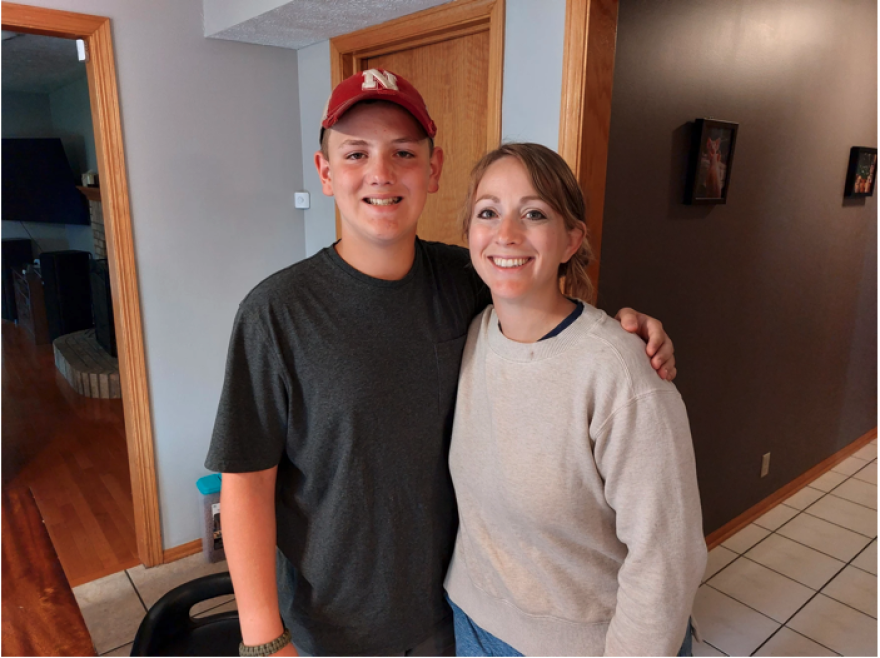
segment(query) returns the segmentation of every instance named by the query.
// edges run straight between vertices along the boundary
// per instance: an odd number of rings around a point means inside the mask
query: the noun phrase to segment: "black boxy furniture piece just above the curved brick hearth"
[[[92,289],[87,251],[44,251],[40,275],[46,298],[46,318],[52,340],[92,323]]]

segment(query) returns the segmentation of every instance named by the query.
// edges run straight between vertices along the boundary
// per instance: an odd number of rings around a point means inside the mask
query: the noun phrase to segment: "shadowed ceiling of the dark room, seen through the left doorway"
[[[86,75],[86,65],[76,56],[76,42],[35,34],[5,38],[2,45],[4,92],[49,94]]]

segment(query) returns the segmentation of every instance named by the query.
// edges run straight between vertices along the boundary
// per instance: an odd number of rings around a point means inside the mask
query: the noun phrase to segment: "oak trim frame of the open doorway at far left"
[[[83,39],[88,47],[86,74],[107,233],[138,557],[148,567],[161,564],[153,428],[110,19],[3,2],[2,24],[4,30],[13,32]]]

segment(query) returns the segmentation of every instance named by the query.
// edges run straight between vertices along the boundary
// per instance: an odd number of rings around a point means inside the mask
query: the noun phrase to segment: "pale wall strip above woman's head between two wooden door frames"
[[[565,0],[507,0],[501,139],[559,146]]]

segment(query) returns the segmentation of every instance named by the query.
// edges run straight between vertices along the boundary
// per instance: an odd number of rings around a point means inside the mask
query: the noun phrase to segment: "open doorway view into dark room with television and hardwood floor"
[[[75,587],[140,563],[100,187],[72,185],[97,172],[88,80],[68,39],[2,50],[3,486],[31,490]]]

